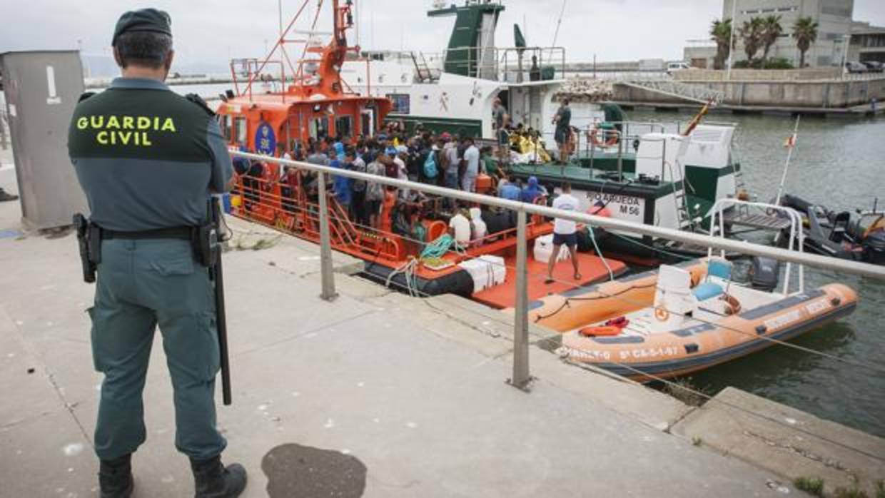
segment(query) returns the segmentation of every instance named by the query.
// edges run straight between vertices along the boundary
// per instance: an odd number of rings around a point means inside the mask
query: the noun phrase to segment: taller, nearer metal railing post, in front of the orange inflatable
[[[517,212],[516,228],[516,317],[513,320],[513,387],[525,389],[528,373],[528,274],[526,266],[526,211]]]

